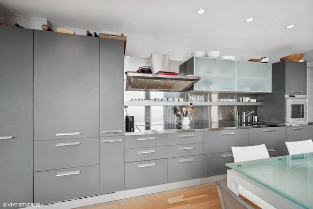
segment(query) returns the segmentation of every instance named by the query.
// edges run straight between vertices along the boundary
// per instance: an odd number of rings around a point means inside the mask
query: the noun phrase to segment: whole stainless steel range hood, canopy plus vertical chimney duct
[[[151,54],[148,66],[152,66],[153,74],[127,73],[125,91],[184,92],[200,80],[199,76],[155,74],[170,71],[170,56],[167,54]]]

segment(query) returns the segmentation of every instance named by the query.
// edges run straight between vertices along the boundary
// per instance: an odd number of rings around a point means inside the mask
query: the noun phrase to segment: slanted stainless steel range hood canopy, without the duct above
[[[199,76],[127,73],[125,91],[184,92],[200,80]]]

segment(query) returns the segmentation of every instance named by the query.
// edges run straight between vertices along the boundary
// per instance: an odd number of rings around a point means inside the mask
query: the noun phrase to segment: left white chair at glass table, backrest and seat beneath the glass
[[[231,147],[233,152],[234,162],[243,162],[243,161],[252,161],[259,159],[269,158],[268,149],[265,144],[255,145],[255,146],[242,146],[242,147]],[[246,190],[242,186],[238,186],[239,194],[246,197],[255,205],[259,206],[262,209],[275,209],[272,205],[268,204],[252,192]]]

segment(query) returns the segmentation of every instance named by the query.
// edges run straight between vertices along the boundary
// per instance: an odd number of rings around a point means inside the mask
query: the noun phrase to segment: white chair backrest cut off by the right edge
[[[289,155],[313,152],[312,139],[303,140],[303,141],[286,141],[285,143],[286,143]]]

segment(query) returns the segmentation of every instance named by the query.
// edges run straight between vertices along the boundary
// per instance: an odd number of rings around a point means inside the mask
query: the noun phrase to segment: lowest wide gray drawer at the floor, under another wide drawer
[[[99,165],[34,173],[34,202],[52,203],[99,194]]]

